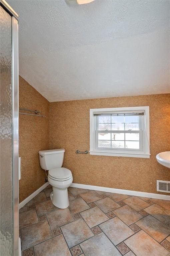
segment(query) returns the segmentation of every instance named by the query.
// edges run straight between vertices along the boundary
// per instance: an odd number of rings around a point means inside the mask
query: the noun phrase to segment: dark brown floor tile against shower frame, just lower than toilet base
[[[38,222],[36,210],[21,212],[19,214],[19,228],[23,228]]]

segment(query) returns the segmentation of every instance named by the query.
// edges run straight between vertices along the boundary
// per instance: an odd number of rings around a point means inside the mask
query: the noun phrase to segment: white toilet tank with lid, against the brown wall
[[[64,152],[64,148],[38,151],[41,168],[43,170],[51,170],[62,167]]]

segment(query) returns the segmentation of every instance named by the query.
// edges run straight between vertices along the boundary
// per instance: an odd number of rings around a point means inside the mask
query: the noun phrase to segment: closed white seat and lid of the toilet
[[[48,175],[52,180],[56,181],[65,181],[72,177],[71,171],[64,167],[51,169],[48,171]]]

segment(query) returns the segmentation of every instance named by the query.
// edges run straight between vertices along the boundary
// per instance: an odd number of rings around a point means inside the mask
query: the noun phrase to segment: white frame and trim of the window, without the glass
[[[112,149],[112,148],[98,148],[98,139],[96,133],[96,118],[94,113],[108,113],[118,111],[144,111],[143,122],[141,122],[141,131],[138,131],[140,135],[140,141],[142,141],[142,148],[140,149]],[[103,132],[103,131],[102,131]],[[121,131],[118,131],[121,133]],[[126,131],[127,133],[127,131]],[[136,131],[129,131],[129,133],[136,133]],[[139,157],[150,158],[150,145],[149,145],[149,106],[142,107],[123,107],[123,108],[95,108],[90,109],[90,155],[100,156],[123,156],[123,157]],[[141,144],[141,143],[140,143]]]

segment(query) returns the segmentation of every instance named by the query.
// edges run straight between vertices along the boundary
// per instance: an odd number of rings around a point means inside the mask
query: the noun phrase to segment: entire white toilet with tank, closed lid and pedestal
[[[73,182],[69,169],[62,167],[65,149],[52,149],[39,151],[40,166],[48,170],[48,182],[53,187],[50,194],[53,205],[64,209],[69,206],[67,188]]]

